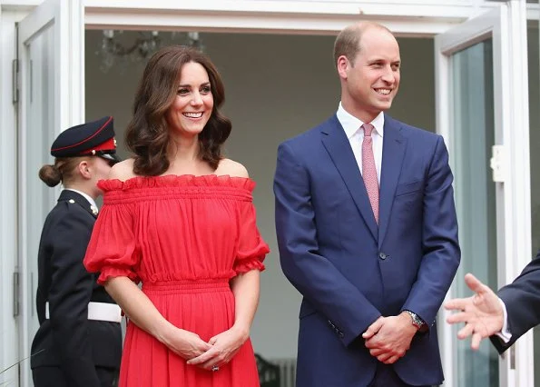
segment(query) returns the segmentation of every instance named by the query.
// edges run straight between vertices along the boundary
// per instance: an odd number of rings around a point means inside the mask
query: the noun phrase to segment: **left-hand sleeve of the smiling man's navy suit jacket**
[[[319,253],[309,174],[286,143],[278,149],[274,194],[283,273],[331,325],[339,327],[340,340],[348,346],[381,314]]]

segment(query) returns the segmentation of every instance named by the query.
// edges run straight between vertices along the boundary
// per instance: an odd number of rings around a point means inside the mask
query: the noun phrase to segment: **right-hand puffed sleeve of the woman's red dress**
[[[264,270],[264,258],[270,253],[268,244],[260,237],[257,228],[255,206],[251,202],[241,203],[241,215],[239,217],[239,243],[234,271],[247,273],[251,270]]]

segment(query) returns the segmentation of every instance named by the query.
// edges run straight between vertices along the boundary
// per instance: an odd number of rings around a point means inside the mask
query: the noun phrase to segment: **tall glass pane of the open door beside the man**
[[[474,273],[496,288],[496,193],[489,159],[495,141],[492,41],[452,56],[453,157],[461,265],[454,296],[471,295],[463,280]],[[453,328],[457,334],[459,326]],[[497,386],[498,357],[489,341],[478,352],[470,341],[457,342],[457,384]]]

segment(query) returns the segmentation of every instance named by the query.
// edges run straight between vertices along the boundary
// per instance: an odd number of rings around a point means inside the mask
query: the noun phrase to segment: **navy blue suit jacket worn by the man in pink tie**
[[[280,263],[303,295],[298,387],[368,385],[378,361],[358,336],[404,309],[430,329],[396,372],[409,384],[443,381],[435,319],[460,259],[452,181],[441,136],[385,115],[377,224],[336,115],[280,144]]]

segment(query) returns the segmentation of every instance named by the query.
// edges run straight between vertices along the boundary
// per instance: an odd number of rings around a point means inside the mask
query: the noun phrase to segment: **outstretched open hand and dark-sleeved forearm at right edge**
[[[472,336],[471,348],[477,350],[489,337],[499,353],[505,352],[529,329],[540,323],[540,252],[513,283],[494,293],[476,277],[467,273],[465,282],[475,295],[453,299],[445,304],[457,310],[448,323],[466,323],[457,332],[459,339]]]

